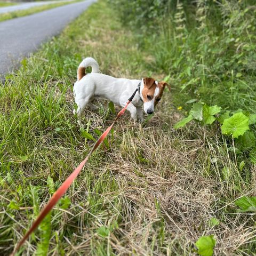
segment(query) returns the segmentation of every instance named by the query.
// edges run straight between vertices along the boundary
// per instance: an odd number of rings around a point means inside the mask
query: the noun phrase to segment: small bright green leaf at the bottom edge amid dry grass
[[[202,256],[212,256],[215,244],[214,235],[201,236],[196,241],[196,247],[198,248],[197,253]]]

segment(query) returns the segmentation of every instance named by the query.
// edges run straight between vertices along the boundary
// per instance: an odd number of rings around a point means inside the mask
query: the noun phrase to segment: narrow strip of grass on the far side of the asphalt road
[[[62,2],[62,3],[54,3],[54,4],[45,4],[45,5],[41,5],[41,6],[31,7],[31,8],[26,9],[26,10],[1,13],[0,14],[0,22],[5,21],[5,20],[10,20],[10,19],[13,19],[13,18],[27,16],[27,15],[34,14],[34,13],[37,13],[37,12],[42,12],[42,11],[49,10],[49,9],[59,7],[59,6],[62,6],[62,5],[66,5],[66,4],[70,4],[70,3],[76,3],[76,2],[79,2],[79,1],[81,1],[81,0],[75,0],[75,1],[70,1],[70,2]]]

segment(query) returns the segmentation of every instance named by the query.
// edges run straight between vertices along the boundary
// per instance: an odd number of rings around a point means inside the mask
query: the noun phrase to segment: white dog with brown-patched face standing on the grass
[[[85,69],[91,67],[92,71],[85,74]],[[154,78],[145,77],[141,80],[115,78],[100,73],[99,65],[91,57],[85,58],[77,69],[77,81],[74,84],[75,102],[77,110],[74,114],[79,117],[86,105],[95,108],[92,104],[94,98],[103,98],[112,101],[116,105],[124,107],[132,93],[138,88],[127,110],[134,121],[143,122],[143,110],[146,114],[152,114],[159,100],[161,100],[164,88],[169,84],[157,82]]]

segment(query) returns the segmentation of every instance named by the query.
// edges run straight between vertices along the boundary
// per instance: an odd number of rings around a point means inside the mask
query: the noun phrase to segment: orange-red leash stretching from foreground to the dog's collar
[[[140,90],[139,89],[140,88],[140,84],[141,84],[141,82],[138,84],[137,89],[133,92],[133,94],[131,95],[129,100],[126,102],[126,105],[124,106],[124,108],[121,111],[119,111],[119,113],[117,114],[117,116],[116,116],[115,120],[113,121],[113,123],[108,127],[108,129],[105,132],[103,132],[101,134],[100,138],[94,144],[94,146],[91,149],[91,151],[89,152],[89,154],[78,165],[78,167],[76,167],[76,169],[69,175],[69,177],[62,183],[62,185],[55,191],[55,193],[53,194],[53,196],[50,199],[50,201],[44,206],[43,210],[39,213],[38,217],[33,222],[32,226],[29,228],[29,230],[27,231],[25,236],[23,236],[23,238],[20,240],[18,245],[14,248],[14,250],[10,254],[10,256],[14,256],[15,253],[17,253],[19,251],[20,247],[23,245],[23,243],[25,243],[25,241],[27,240],[29,235],[38,227],[38,225],[42,222],[42,220],[45,218],[45,216],[53,209],[54,205],[57,204],[59,199],[66,193],[66,191],[70,187],[71,183],[73,183],[73,181],[76,179],[77,175],[82,171],[82,169],[83,169],[84,165],[86,164],[87,160],[89,159],[89,157],[101,145],[102,141],[106,138],[106,136],[108,135],[108,133],[112,129],[112,127],[115,124],[115,122],[124,114],[124,111],[126,110],[128,105],[131,103],[131,101],[133,100],[136,92]]]

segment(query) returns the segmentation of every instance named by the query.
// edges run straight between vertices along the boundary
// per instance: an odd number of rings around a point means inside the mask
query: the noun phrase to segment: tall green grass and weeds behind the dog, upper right
[[[142,31],[150,68],[170,75],[175,106],[202,100],[255,112],[254,1],[112,2],[126,25]]]

